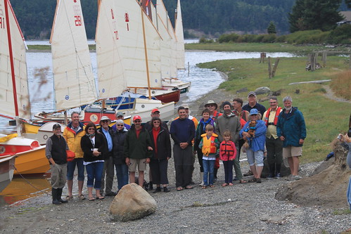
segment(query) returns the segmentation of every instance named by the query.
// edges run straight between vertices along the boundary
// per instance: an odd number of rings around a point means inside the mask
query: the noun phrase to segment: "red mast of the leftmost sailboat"
[[[10,30],[10,18],[8,15],[8,0],[4,0],[5,6],[5,15],[6,15],[6,30],[7,30],[7,39],[8,39],[8,52],[10,55],[10,66],[11,66],[11,78],[12,78],[12,86],[13,86],[13,100],[15,105],[15,121],[17,128],[17,135],[21,136],[20,132],[20,115],[18,112],[18,102],[17,102],[17,89],[15,82],[15,68],[13,63],[13,52],[12,52],[12,41],[11,41],[11,30]]]

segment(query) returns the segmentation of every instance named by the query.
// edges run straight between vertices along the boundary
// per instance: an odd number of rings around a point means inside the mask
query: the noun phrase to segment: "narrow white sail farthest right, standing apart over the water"
[[[185,69],[184,65],[184,33],[183,33],[183,20],[181,18],[180,0],[177,3],[177,19],[175,19],[175,34],[177,37],[177,68]]]

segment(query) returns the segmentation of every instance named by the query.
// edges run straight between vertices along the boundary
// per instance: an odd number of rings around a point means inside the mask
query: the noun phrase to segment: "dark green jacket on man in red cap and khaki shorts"
[[[152,157],[152,152],[148,151],[148,146],[151,146],[151,137],[148,131],[142,127],[139,138],[136,138],[135,126],[127,132],[125,138],[125,157],[132,158],[134,160],[142,160],[146,157]],[[152,147],[152,146],[151,146]]]

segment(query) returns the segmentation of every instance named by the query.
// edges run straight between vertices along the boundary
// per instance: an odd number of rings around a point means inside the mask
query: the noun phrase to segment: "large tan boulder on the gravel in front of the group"
[[[115,221],[141,219],[156,211],[156,201],[136,183],[130,183],[118,192],[110,205]]]

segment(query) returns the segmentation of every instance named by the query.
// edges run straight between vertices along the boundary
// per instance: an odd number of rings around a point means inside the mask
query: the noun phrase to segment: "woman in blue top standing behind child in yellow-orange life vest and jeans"
[[[205,127],[206,125],[210,124],[215,127],[215,121],[210,118],[211,112],[208,109],[203,110],[202,116],[203,118],[200,119],[200,122],[198,123],[198,127],[196,128],[195,132],[195,142],[193,145],[193,151],[194,153],[198,153],[198,163],[200,164],[200,178],[202,182],[200,183],[200,186],[203,186],[203,151],[198,148],[198,145],[200,144],[200,141],[202,139],[201,135],[205,134]]]

